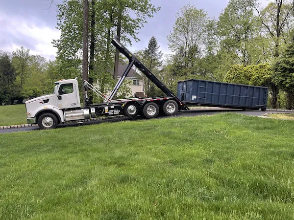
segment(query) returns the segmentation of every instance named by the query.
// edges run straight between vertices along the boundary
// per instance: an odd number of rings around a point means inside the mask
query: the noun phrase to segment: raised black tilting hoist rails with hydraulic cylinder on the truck
[[[121,78],[118,80],[117,84],[111,91],[109,95],[109,100],[111,100],[117,90],[123,83],[124,78],[129,73],[130,69],[133,65],[135,65],[140,71],[150,79],[160,90],[162,90],[168,97],[174,97],[174,99],[179,103],[179,110],[189,110],[185,103],[183,103],[180,99],[178,99],[172,91],[167,88],[156,76],[154,76],[148,68],[142,64],[123,44],[120,43],[119,37],[116,36],[111,43],[129,60],[129,64],[127,65],[126,69],[123,71]],[[108,101],[110,102],[110,101]]]

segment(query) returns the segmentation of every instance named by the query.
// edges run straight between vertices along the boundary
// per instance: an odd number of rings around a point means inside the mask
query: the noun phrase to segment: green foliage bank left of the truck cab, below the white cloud
[[[7,55],[7,53],[3,54]],[[1,58],[5,57],[4,60],[0,61],[0,65],[6,65],[6,68],[8,68],[10,58],[6,55],[0,55]],[[47,62],[40,55],[30,55],[29,49],[25,49],[23,46],[12,53],[10,65],[9,73],[5,73],[9,77],[0,80],[0,83],[3,83],[0,88],[3,88],[3,91],[5,90],[5,101],[0,100],[0,103],[22,103],[24,98],[52,93],[53,83],[60,79],[56,61]]]

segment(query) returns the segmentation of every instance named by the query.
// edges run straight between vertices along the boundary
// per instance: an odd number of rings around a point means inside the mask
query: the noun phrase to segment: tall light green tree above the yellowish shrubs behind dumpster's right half
[[[239,64],[256,63],[254,56],[259,49],[256,50],[255,41],[258,37],[258,24],[254,19],[255,1],[230,0],[217,24],[221,47]]]

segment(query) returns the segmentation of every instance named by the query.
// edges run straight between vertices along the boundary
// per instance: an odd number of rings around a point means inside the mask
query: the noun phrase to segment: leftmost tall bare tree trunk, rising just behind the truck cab
[[[83,0],[84,9],[83,9],[83,82],[84,80],[88,81],[88,38],[89,38],[89,1]],[[84,86],[82,85],[82,88]],[[86,106],[86,93],[85,89],[83,89],[83,104]]]

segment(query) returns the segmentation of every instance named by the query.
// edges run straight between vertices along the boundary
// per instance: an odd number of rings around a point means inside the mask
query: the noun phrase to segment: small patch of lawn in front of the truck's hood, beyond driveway
[[[0,126],[26,124],[25,104],[0,106]]]

